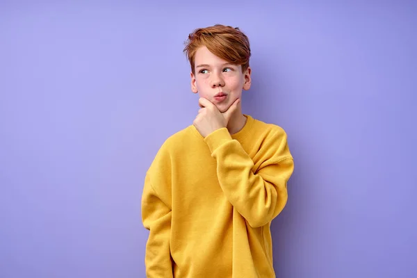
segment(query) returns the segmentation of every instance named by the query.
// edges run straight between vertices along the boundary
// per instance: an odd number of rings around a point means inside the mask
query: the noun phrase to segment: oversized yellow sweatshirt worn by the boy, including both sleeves
[[[142,194],[148,278],[275,277],[270,222],[293,157],[281,127],[245,116],[234,135],[188,126],[156,154]]]

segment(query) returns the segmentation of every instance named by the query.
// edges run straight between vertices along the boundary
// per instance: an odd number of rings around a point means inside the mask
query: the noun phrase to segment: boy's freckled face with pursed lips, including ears
[[[240,65],[230,64],[207,47],[200,47],[195,54],[195,74],[191,72],[191,90],[223,113],[240,98],[242,90],[250,89],[250,73],[250,67],[242,72]]]

